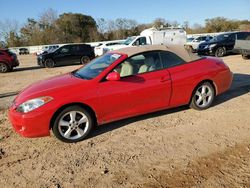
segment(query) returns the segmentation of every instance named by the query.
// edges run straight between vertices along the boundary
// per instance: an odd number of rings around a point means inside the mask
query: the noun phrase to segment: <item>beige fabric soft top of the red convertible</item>
[[[182,58],[186,62],[195,61],[200,59],[198,55],[193,54],[192,52],[185,49],[184,46],[165,46],[165,45],[145,45],[145,46],[138,46],[138,47],[128,47],[128,48],[122,48],[119,50],[114,50],[112,53],[122,53],[127,54],[128,56],[133,56],[135,54],[139,54],[142,52],[148,52],[148,51],[169,51],[172,53],[175,53],[180,58]]]

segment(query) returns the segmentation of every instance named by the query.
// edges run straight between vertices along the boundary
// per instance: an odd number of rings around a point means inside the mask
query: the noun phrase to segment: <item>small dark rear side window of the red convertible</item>
[[[160,54],[164,68],[169,68],[185,63],[183,59],[172,52],[161,52]]]

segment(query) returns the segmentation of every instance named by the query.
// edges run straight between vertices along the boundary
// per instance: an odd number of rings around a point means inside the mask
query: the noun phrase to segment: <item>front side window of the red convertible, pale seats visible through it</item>
[[[121,77],[142,74],[162,69],[158,52],[146,52],[126,59],[114,71]]]

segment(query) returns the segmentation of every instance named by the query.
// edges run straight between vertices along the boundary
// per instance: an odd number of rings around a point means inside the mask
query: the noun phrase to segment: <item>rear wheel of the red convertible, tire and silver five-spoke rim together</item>
[[[211,106],[214,97],[214,87],[209,82],[201,83],[195,88],[189,106],[195,110],[205,110]]]

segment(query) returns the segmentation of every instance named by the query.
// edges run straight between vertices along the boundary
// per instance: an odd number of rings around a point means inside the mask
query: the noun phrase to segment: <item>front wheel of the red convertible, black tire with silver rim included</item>
[[[79,123],[82,121],[82,123]],[[79,142],[87,137],[94,120],[91,114],[80,106],[69,106],[55,118],[52,131],[56,138],[63,142]]]

